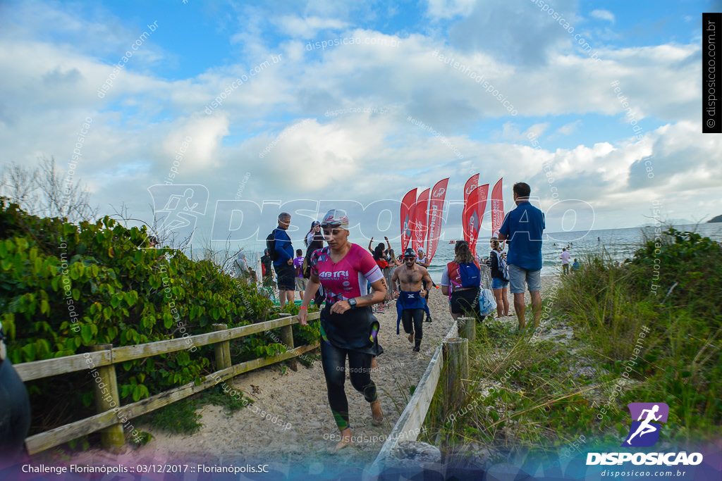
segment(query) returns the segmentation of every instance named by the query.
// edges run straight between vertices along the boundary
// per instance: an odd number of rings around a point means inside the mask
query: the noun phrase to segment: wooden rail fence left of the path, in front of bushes
[[[308,320],[318,319],[319,315],[320,313],[318,312],[310,313],[308,314]],[[160,407],[170,405],[175,401],[182,400],[192,394],[201,392],[204,389],[213,387],[220,381],[238,376],[238,374],[243,374],[262,366],[269,366],[269,364],[278,363],[286,359],[292,359],[309,350],[318,348],[318,343],[294,348],[291,326],[296,322],[298,322],[298,318],[289,315],[271,321],[259,322],[258,324],[233,327],[232,329],[227,329],[226,325],[216,324],[214,325],[215,331],[207,332],[206,334],[180,339],[162,340],[155,343],[129,345],[121,348],[113,348],[110,344],[95,345],[92,346],[91,353],[17,364],[14,368],[22,381],[32,381],[32,379],[43,379],[58,376],[59,374],[82,371],[84,369],[90,369],[90,366],[92,366],[92,369],[97,369],[102,384],[105,384],[105,387],[107,387],[110,392],[110,394],[103,394],[99,387],[101,383],[95,382],[97,414],[90,418],[84,418],[74,423],[52,429],[51,431],[45,431],[44,433],[38,433],[26,438],[25,448],[27,449],[27,453],[35,454],[53,446],[58,446],[58,444],[79,438],[80,436],[95,433],[96,431],[103,431],[103,447],[106,449],[122,446],[125,443],[125,436],[121,418],[136,418],[157,410]],[[236,364],[235,366],[231,365],[231,340],[278,327],[281,327],[282,344],[287,347],[285,353],[280,353],[269,358],[256,358],[251,361]],[[195,345],[196,347],[201,345],[214,345],[218,371],[207,375],[206,380],[197,386],[194,382],[190,382],[129,405],[120,405],[118,384],[116,382],[116,364],[134,359],[173,353],[178,350],[186,350],[188,349],[188,340],[190,340],[191,345]],[[292,360],[292,362],[295,363],[295,360]]]

